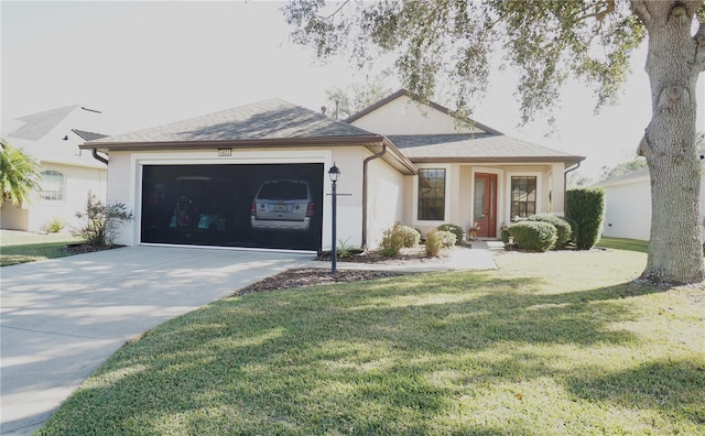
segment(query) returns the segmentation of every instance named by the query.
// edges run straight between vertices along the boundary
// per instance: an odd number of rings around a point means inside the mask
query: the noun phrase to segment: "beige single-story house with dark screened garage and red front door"
[[[328,250],[378,247],[401,221],[497,238],[503,225],[564,212],[565,172],[583,156],[459,123],[400,90],[347,120],[273,99],[88,141],[108,156],[108,200],[133,222],[118,242]]]

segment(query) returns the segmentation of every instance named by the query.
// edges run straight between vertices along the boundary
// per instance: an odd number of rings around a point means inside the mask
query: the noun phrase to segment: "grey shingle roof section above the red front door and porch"
[[[567,154],[532,144],[506,134],[414,134],[390,135],[389,140],[412,162],[429,160],[546,160],[583,161]]]

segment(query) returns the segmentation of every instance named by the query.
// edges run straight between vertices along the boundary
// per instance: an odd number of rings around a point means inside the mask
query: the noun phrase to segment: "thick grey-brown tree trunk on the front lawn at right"
[[[677,1],[633,1],[649,33],[647,73],[652,119],[639,145],[651,173],[651,240],[642,277],[666,283],[705,279],[701,241],[701,162],[695,144],[702,70],[694,11]],[[692,8],[691,8],[692,9]]]

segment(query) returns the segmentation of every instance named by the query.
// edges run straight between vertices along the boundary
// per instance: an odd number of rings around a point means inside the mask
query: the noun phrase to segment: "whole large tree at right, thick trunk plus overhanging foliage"
[[[616,101],[629,54],[648,40],[652,119],[638,146],[652,178],[652,221],[642,276],[705,279],[695,148],[695,85],[705,69],[704,0],[294,0],[283,8],[295,42],[319,58],[350,53],[357,64],[393,53],[402,85],[424,101],[441,79],[457,113],[469,112],[492,70],[492,54],[520,77],[522,122],[558,101],[573,75],[595,91],[596,109]],[[634,144],[636,145],[636,144]]]

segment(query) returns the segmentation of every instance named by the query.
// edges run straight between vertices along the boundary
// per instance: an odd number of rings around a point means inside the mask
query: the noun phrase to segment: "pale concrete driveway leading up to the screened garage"
[[[127,247],[2,268],[0,434],[31,434],[129,339],[312,258]]]

